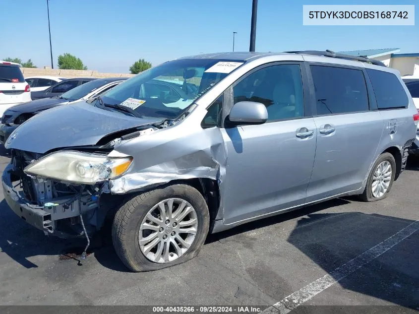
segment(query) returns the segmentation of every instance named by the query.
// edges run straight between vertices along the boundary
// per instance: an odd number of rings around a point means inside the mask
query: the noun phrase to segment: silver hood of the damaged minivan
[[[44,154],[54,148],[95,145],[110,133],[159,121],[162,118],[134,118],[83,101],[32,117],[10,134],[5,147]]]

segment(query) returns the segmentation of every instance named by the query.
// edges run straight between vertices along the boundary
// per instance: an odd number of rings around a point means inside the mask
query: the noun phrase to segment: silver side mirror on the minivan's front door
[[[264,104],[240,101],[234,104],[228,118],[233,125],[261,125],[268,120],[268,111]]]

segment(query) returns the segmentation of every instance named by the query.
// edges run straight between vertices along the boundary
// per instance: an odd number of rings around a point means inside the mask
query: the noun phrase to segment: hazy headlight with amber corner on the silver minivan
[[[28,175],[80,184],[95,184],[122,175],[132,157],[62,151],[47,155],[24,169]]]

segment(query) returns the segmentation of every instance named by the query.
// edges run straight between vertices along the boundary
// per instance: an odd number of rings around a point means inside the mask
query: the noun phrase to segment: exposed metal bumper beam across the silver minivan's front
[[[29,204],[20,194],[15,191],[12,187],[10,174],[8,173],[13,166],[9,164],[3,172],[1,177],[1,183],[3,185],[4,199],[10,206],[11,210],[16,215],[25,220],[28,224],[34,226],[37,229],[44,231],[44,233],[50,234],[54,232],[54,226],[51,218],[51,214],[41,209],[39,206]]]

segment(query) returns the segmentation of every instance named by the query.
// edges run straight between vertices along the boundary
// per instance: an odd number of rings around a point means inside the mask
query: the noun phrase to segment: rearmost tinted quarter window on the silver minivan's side
[[[406,108],[409,99],[396,75],[389,72],[367,69],[374,89],[378,109]]]

